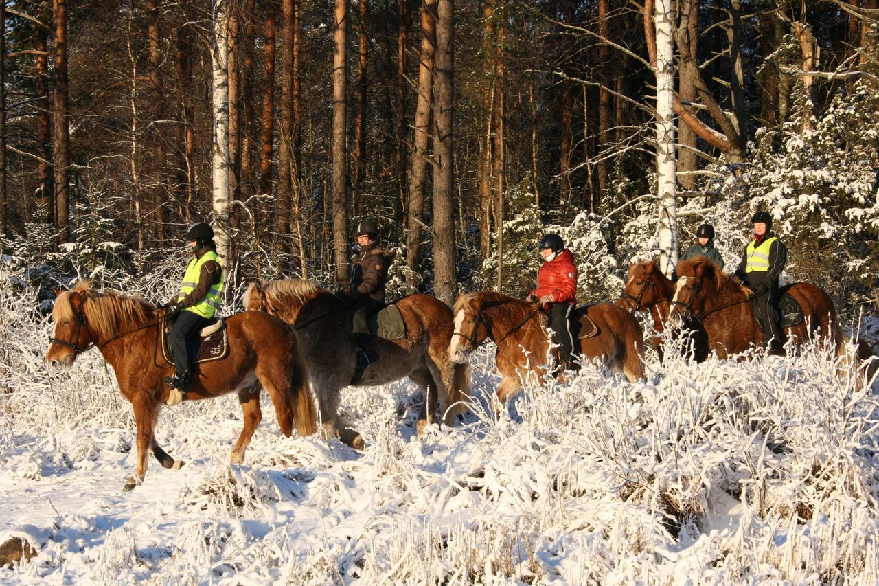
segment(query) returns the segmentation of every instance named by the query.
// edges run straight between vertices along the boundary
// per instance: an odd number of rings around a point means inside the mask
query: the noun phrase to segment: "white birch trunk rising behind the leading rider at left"
[[[211,41],[212,106],[214,145],[212,149],[214,242],[223,267],[229,264],[229,0],[212,0],[214,38]],[[227,276],[227,279],[229,277]]]

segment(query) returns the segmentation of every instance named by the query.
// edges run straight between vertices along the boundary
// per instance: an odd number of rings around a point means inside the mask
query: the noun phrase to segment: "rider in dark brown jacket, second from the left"
[[[385,304],[385,283],[393,254],[381,247],[375,218],[365,218],[354,232],[360,253],[351,275],[351,286],[338,292],[349,309],[349,321],[354,341],[360,349],[357,368],[365,369],[379,359],[374,348],[374,335],[369,331],[367,317],[381,310]]]

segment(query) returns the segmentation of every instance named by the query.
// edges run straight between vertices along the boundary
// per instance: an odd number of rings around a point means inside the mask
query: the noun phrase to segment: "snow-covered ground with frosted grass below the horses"
[[[91,350],[50,375],[47,323],[7,303],[0,543],[39,553],[2,582],[879,581],[879,385],[859,388],[817,349],[672,355],[639,384],[586,369],[496,419],[483,348],[475,410],[454,429],[415,437],[407,381],[348,389],[365,450],[285,438],[264,405],[231,467],[236,399],[187,403],[156,432],[186,465],[150,458],[123,493],[134,421],[112,371]]]

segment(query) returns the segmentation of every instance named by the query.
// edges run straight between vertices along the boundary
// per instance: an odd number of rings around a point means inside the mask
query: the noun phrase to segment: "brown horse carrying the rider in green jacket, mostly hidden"
[[[668,311],[672,307],[674,283],[659,270],[655,260],[634,263],[628,267],[628,280],[622,289],[620,300],[616,303],[628,311],[650,311],[656,335],[650,335],[650,342],[657,348],[662,358],[660,335],[668,321]]]

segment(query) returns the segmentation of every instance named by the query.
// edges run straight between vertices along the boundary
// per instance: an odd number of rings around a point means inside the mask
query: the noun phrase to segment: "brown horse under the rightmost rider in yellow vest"
[[[675,270],[679,279],[669,315],[700,322],[708,334],[708,348],[716,350],[719,358],[740,354],[763,340],[748,302],[751,289],[706,258],[682,260]],[[799,345],[818,339],[841,352],[844,338],[832,299],[808,282],[796,282],[787,291],[803,309],[803,320],[784,328],[788,340]]]

